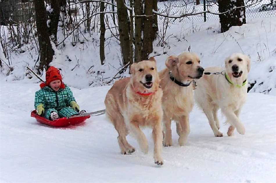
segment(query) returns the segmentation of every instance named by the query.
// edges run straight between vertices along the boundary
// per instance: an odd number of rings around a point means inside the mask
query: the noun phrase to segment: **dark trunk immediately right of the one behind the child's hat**
[[[49,14],[50,16],[50,36],[53,36],[53,40],[57,42],[57,32],[58,32],[58,21],[60,18],[60,7],[62,0],[51,0],[51,8],[53,12]]]

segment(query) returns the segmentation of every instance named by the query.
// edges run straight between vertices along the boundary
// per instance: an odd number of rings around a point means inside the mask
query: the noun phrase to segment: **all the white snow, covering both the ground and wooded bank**
[[[214,137],[207,118],[195,106],[187,145],[178,145],[172,123],[173,146],[163,148],[162,167],[153,162],[150,129],[143,130],[149,141],[148,154],[143,154],[137,141],[128,136],[136,151],[121,155],[118,134],[105,115],[67,128],[37,123],[30,114],[39,80],[26,70],[26,66],[34,68],[37,60],[35,42],[15,48],[10,60],[1,50],[0,58],[7,64],[2,62],[0,68],[0,183],[276,182],[276,17],[246,21],[225,33],[220,33],[218,20],[197,24],[175,21],[169,24],[165,42],[159,42],[159,37],[154,42],[150,56],[155,56],[158,71],[165,68],[169,55],[183,51],[197,53],[203,67],[223,66],[227,56],[241,52],[251,58],[248,82],[255,83],[240,115],[245,135],[235,131],[228,137],[228,125],[223,125],[225,119],[220,115],[224,136]],[[161,36],[163,25],[158,26]],[[58,29],[61,42],[64,35]],[[2,26],[1,36],[4,30]],[[93,112],[105,108],[104,98],[111,86],[102,86],[103,82],[114,77],[122,61],[119,43],[110,38],[109,30],[104,65],[100,65],[99,34],[83,35],[80,41],[84,43],[73,46],[69,37],[64,45],[54,48],[51,65],[61,69],[63,81],[70,86],[81,110]],[[8,39],[8,34],[5,36]],[[41,77],[45,78],[45,71]]]

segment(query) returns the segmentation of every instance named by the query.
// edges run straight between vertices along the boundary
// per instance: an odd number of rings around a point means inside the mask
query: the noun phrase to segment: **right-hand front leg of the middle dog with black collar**
[[[178,143],[183,146],[187,142],[188,135],[190,134],[190,122],[189,115],[183,115],[179,119],[179,125],[181,125],[181,132],[178,132]]]

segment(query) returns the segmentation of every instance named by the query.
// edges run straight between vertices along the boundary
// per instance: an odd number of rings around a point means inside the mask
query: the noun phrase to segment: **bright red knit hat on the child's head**
[[[49,67],[49,69],[46,71],[46,82],[45,83],[41,83],[40,84],[40,88],[43,88],[44,86],[49,86],[50,83],[54,80],[60,80],[61,81],[61,85],[60,88],[65,88],[63,82],[62,82],[62,77],[60,75],[60,71],[51,66]]]

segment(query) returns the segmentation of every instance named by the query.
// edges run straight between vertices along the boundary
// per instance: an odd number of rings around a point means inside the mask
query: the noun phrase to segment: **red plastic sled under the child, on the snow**
[[[34,117],[36,119],[36,121],[46,124],[46,125],[50,125],[53,127],[66,127],[68,125],[76,125],[79,123],[84,122],[86,119],[90,118],[90,116],[83,116],[83,117],[75,117],[75,118],[59,118],[55,121],[50,121],[44,117],[39,116],[35,110],[33,110],[31,112],[31,117]]]

